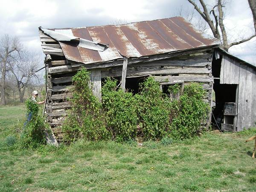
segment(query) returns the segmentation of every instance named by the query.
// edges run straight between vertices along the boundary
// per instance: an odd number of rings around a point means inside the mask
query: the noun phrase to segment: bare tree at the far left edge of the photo
[[[6,105],[6,73],[10,61],[16,58],[15,54],[19,54],[22,51],[22,44],[19,38],[10,37],[9,35],[3,35],[0,38],[0,69],[1,69],[1,104]]]

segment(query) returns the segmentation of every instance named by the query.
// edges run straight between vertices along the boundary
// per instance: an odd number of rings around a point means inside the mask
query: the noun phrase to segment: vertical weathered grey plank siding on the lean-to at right
[[[236,98],[238,102],[237,131],[249,128],[256,122],[255,72],[253,67],[241,64],[227,55],[222,55],[220,84],[238,84],[238,98]]]

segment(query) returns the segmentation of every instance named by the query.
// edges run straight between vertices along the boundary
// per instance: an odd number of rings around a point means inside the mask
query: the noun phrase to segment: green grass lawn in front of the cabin
[[[6,145],[23,107],[0,108],[0,191],[256,191],[256,129],[208,132],[163,145],[78,141],[56,149]],[[20,125],[22,122],[20,123]]]

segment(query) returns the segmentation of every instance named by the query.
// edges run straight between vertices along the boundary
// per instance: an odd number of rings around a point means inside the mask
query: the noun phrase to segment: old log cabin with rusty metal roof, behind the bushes
[[[205,100],[211,104],[215,82],[212,58],[222,54],[221,49],[215,51],[220,42],[182,17],[81,28],[39,27],[39,35],[48,73],[47,121],[60,139],[59,125],[70,107],[67,86],[81,67],[90,70],[93,93],[99,99],[102,81],[108,76],[134,93],[139,82],[154,76],[163,91],[169,84],[201,82],[207,90]],[[208,127],[210,121],[209,113],[204,126]]]

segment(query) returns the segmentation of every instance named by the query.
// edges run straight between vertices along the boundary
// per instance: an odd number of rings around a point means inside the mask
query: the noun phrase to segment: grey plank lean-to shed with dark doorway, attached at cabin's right
[[[256,122],[256,66],[215,49],[212,61],[216,107],[222,130],[242,131]],[[225,104],[226,103],[226,104]]]

